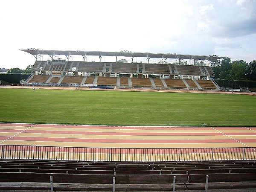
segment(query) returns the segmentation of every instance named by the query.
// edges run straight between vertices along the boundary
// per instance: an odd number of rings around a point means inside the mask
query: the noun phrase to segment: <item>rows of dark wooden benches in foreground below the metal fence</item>
[[[0,159],[0,190],[171,191],[256,188],[256,161],[93,162]],[[52,176],[52,182],[51,182]],[[175,180],[175,182],[174,182]]]

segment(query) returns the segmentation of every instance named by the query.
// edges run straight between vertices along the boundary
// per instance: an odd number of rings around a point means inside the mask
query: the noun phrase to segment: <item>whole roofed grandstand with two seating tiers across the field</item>
[[[35,74],[30,76],[25,84],[51,86],[218,90],[219,87],[213,80],[214,73],[209,64],[216,59],[223,58],[211,55],[178,55],[172,53],[50,51],[38,49],[22,49],[22,51],[28,52],[36,58],[32,67]],[[52,60],[38,61],[38,55],[49,55]],[[61,58],[53,59],[54,55],[65,55],[67,61]],[[71,55],[81,55],[83,61],[69,61]],[[85,58],[89,55],[99,56],[100,61],[85,61]],[[116,61],[102,61],[102,56],[115,57]],[[119,63],[117,57],[130,57],[131,62]],[[134,57],[146,58],[147,63],[134,63]],[[149,63],[150,58],[160,59],[161,62]],[[169,62],[169,59],[172,62]]]

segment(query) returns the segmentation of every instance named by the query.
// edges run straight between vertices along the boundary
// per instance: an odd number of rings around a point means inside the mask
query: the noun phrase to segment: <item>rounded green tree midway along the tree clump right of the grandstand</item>
[[[247,63],[243,60],[233,61],[231,64],[230,79],[244,80],[246,65],[247,65]]]

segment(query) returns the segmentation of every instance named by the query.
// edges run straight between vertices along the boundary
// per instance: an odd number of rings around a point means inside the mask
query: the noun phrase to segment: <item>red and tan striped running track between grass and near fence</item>
[[[99,148],[256,147],[256,127],[131,127],[0,123],[0,144]]]

